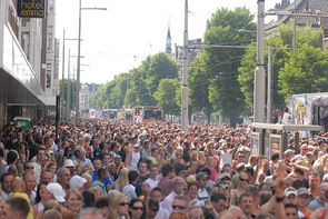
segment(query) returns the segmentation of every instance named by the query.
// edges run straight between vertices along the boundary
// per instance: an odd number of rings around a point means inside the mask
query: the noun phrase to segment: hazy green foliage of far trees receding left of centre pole
[[[108,82],[90,101],[95,108],[122,108],[132,106],[157,106],[153,93],[160,80],[177,78],[178,67],[166,53],[147,57],[142,64],[130,73],[121,73]]]

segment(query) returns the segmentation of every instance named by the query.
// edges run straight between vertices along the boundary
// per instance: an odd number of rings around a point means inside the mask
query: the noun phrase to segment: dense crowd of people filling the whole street
[[[0,219],[328,218],[320,138],[290,136],[282,157],[268,158],[251,155],[243,125],[185,133],[95,119],[57,131],[42,121],[0,131]]]

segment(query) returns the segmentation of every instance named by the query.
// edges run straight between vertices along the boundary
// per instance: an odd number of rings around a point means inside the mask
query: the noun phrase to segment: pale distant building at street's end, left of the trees
[[[80,90],[80,110],[90,109],[90,98],[101,88],[97,83],[81,83]]]

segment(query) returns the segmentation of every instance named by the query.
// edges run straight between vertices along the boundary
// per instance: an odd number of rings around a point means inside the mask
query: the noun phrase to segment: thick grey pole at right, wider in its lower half
[[[266,70],[265,70],[265,0],[258,0],[257,68],[254,82],[254,121],[265,122]]]

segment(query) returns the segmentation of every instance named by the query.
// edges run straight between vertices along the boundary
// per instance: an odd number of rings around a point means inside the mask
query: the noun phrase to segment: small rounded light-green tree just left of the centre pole
[[[180,115],[180,107],[177,104],[177,92],[181,92],[181,83],[178,79],[161,79],[153,98],[158,106],[163,108],[165,113]]]

